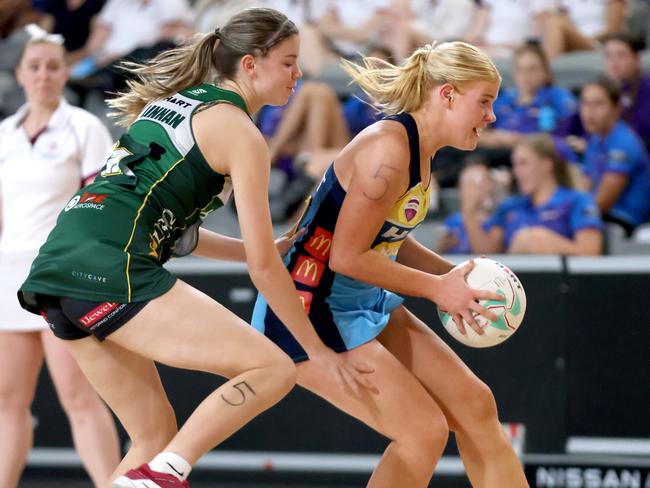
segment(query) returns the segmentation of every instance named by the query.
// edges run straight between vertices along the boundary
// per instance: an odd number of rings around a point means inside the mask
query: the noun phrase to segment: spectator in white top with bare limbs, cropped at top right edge
[[[544,20],[548,59],[596,49],[607,34],[624,30],[626,4],[627,0],[559,0],[559,10]]]

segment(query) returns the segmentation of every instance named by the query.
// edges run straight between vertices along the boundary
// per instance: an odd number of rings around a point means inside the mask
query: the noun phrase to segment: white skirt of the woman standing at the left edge
[[[43,317],[23,309],[16,296],[37,254],[37,250],[0,253],[0,331],[32,332],[48,328]]]

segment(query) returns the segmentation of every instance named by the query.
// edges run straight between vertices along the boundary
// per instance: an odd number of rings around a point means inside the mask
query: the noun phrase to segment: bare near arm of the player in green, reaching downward
[[[282,263],[273,239],[267,196],[269,152],[260,132],[241,110],[227,105],[197,114],[193,126],[197,143],[210,166],[232,179],[248,272],[255,287],[309,358],[333,375],[341,387],[346,383],[353,390],[358,389],[357,383],[370,387],[361,374],[370,372],[369,368],[344,363],[320,340]]]

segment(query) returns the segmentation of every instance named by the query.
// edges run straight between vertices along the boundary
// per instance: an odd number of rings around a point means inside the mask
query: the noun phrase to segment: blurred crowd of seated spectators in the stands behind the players
[[[465,40],[504,79],[478,149],[434,158],[435,249],[598,255],[648,240],[648,0],[0,0],[0,116],[24,103],[15,67],[29,23],[63,36],[66,98],[117,136],[105,100],[125,86],[120,62],[260,5],[299,26],[304,72],[287,105],[257,114],[279,175],[274,221],[295,218],[337,150],[381,117],[340,58],[399,63],[416,46]]]

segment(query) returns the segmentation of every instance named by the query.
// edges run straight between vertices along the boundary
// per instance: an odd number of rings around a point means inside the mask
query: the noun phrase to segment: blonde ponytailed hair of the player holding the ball
[[[427,44],[400,66],[372,57],[363,58],[362,63],[341,61],[352,80],[386,114],[417,110],[436,85],[450,83],[461,90],[473,81],[501,80],[490,58],[465,42]]]

